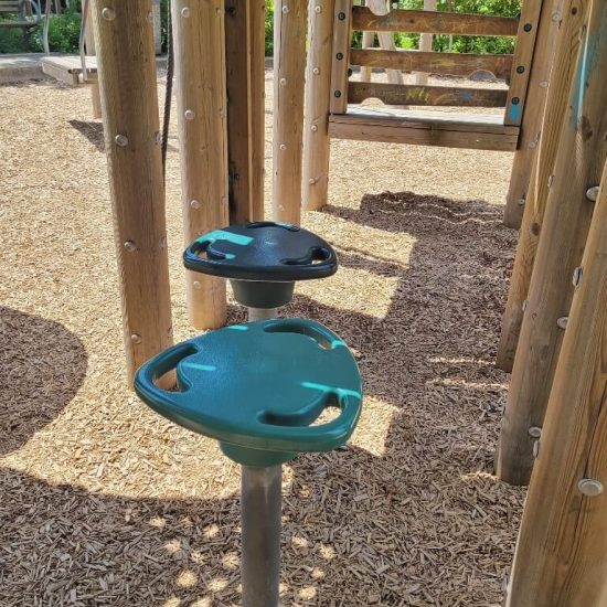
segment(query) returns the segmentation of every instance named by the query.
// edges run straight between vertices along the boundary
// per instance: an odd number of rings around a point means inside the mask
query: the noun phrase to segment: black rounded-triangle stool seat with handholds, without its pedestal
[[[188,269],[236,280],[291,283],[338,269],[322,238],[288,223],[254,222],[203,234],[183,254]]]

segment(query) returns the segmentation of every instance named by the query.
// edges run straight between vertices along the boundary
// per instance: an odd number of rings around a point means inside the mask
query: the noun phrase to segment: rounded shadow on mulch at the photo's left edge
[[[0,456],[56,417],[84,381],[87,353],[58,322],[0,306]]]

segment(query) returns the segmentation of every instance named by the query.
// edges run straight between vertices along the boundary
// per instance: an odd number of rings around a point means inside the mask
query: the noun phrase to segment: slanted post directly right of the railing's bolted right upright
[[[536,157],[546,92],[551,81],[552,62],[558,39],[563,0],[544,0],[537,23],[537,35],[529,65],[514,65],[515,74],[529,71],[529,84],[523,107],[519,148],[514,152],[510,185],[505,196],[504,223],[511,227],[521,226],[524,206],[529,199],[531,171]],[[575,15],[573,15],[575,18]],[[564,19],[568,19],[566,15]],[[558,78],[558,74],[555,74]]]

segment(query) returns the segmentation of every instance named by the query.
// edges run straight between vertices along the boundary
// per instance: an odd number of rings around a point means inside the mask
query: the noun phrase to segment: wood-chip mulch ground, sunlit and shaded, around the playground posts
[[[3,86],[0,108],[0,605],[238,605],[237,467],[125,386],[89,92]],[[174,130],[170,141],[181,340],[194,333]],[[517,237],[501,223],[511,160],[333,141],[330,205],[303,225],[333,243],[341,269],[299,284],[285,313],[344,338],[365,403],[348,449],[286,467],[284,605],[502,600],[524,497],[492,476],[508,382],[493,359]],[[269,183],[266,199],[269,213]],[[232,305],[230,321],[243,319]]]

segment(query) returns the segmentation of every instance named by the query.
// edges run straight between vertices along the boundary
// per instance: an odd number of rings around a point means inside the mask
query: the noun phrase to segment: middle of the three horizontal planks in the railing
[[[479,70],[505,78],[512,71],[512,55],[475,55],[469,53],[424,53],[419,51],[384,51],[382,49],[352,49],[352,65],[368,65],[384,70],[426,72],[449,76],[469,76]]]

